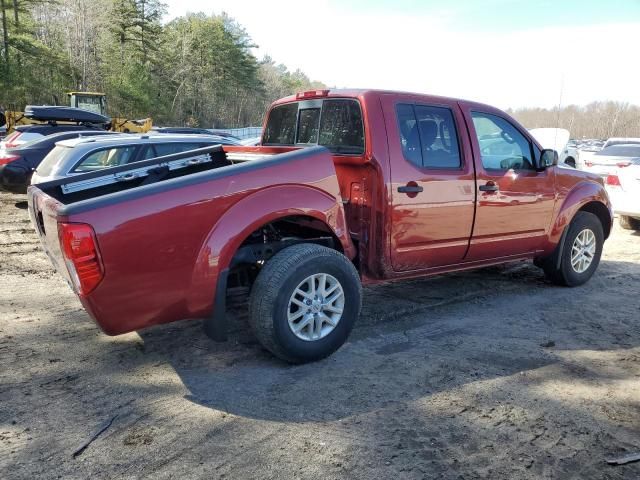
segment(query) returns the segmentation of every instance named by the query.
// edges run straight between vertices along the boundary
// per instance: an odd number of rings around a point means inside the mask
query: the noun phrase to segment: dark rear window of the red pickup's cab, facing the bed
[[[311,100],[275,107],[264,145],[322,145],[333,153],[364,153],[364,127],[355,100]]]

